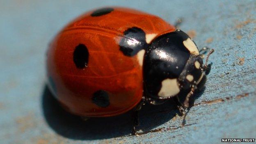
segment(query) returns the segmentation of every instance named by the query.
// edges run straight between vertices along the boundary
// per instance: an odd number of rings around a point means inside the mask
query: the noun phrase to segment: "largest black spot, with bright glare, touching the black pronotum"
[[[129,28],[123,33],[119,46],[124,55],[134,56],[139,50],[145,49],[148,46],[146,34],[138,27]]]

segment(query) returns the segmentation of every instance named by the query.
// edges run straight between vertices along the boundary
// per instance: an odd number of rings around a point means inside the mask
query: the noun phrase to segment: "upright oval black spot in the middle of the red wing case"
[[[84,44],[79,44],[75,47],[73,53],[73,61],[78,69],[83,69],[88,66],[89,52]]]

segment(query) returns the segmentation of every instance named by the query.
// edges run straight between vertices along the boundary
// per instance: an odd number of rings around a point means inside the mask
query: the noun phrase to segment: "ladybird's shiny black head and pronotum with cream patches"
[[[206,68],[194,41],[176,30],[155,38],[144,56],[146,97],[167,99],[186,96],[206,82]]]

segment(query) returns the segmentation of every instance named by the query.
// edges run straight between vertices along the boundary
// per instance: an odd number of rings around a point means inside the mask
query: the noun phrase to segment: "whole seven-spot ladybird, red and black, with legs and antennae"
[[[48,87],[64,109],[111,117],[174,100],[184,112],[206,82],[210,50],[158,16],[123,7],[89,11],[66,25],[47,51]]]

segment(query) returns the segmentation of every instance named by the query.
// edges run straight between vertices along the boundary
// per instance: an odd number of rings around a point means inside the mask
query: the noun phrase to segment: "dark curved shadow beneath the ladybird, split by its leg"
[[[115,117],[90,118],[83,121],[80,117],[69,114],[59,105],[47,86],[42,94],[43,115],[56,133],[69,139],[93,140],[113,137],[130,136],[132,129],[132,112],[126,112]],[[178,110],[174,104],[144,105],[139,114],[140,125],[138,130],[142,134],[150,133],[176,116]]]

